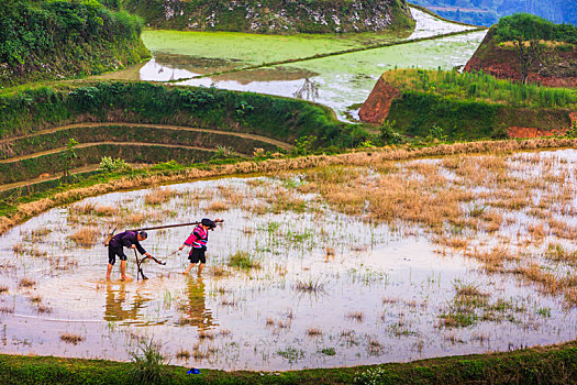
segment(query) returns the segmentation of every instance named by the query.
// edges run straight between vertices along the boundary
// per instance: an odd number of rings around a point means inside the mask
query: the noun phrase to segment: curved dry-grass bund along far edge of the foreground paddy
[[[48,209],[77,200],[119,190],[177,184],[235,175],[266,174],[325,167],[331,165],[367,166],[385,161],[403,161],[458,154],[503,153],[576,147],[577,139],[535,139],[523,141],[485,141],[440,144],[430,147],[382,147],[339,155],[312,155],[281,160],[231,161],[230,164],[158,164],[129,173],[98,174],[71,185],[62,185],[30,196],[7,198],[0,205],[0,234]]]

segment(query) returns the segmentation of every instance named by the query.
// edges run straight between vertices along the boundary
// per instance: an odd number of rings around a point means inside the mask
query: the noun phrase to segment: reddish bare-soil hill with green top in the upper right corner
[[[550,87],[577,87],[577,28],[529,14],[503,18],[489,30],[465,70]]]

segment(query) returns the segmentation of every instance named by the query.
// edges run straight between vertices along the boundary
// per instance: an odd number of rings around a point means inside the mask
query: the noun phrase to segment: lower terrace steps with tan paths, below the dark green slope
[[[176,161],[204,162],[224,148],[231,155],[252,155],[255,148],[290,150],[288,143],[263,135],[219,132],[187,127],[135,123],[81,123],[41,130],[0,141],[0,184],[53,176],[63,170],[68,140],[74,138],[77,157],[70,167],[93,167],[103,156],[135,164]],[[232,150],[234,148],[234,151]],[[0,186],[0,190],[5,189]]]

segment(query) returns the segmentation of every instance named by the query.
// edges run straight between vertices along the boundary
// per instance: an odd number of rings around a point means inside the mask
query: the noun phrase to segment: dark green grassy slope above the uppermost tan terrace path
[[[320,105],[203,87],[148,82],[74,82],[0,92],[0,139],[82,122],[171,124],[241,132],[291,142],[315,135],[317,145],[354,147],[364,128],[336,120]]]

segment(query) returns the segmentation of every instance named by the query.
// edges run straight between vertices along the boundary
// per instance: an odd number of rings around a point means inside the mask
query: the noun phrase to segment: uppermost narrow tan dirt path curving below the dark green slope
[[[19,139],[25,139],[25,138],[34,138],[37,135],[48,134],[57,131],[66,131],[70,129],[76,128],[84,128],[84,127],[111,127],[111,125],[120,125],[120,127],[143,127],[143,128],[152,128],[152,129],[159,129],[159,130],[176,130],[176,131],[195,131],[195,132],[207,132],[207,133],[213,133],[213,134],[221,134],[221,135],[231,135],[231,136],[237,136],[237,138],[244,138],[244,139],[252,139],[255,141],[260,141],[265,143],[269,143],[273,145],[276,145],[278,147],[281,147],[284,150],[291,150],[292,145],[278,141],[276,139],[271,139],[264,135],[257,135],[257,134],[249,134],[244,132],[233,132],[233,131],[222,131],[222,130],[212,130],[212,129],[199,129],[199,128],[192,128],[192,127],[184,127],[184,125],[167,125],[167,124],[148,124],[148,123],[116,123],[116,122],[90,122],[90,123],[77,123],[77,124],[68,124],[68,125],[62,125],[62,127],[55,127],[52,129],[45,129],[41,131],[36,131],[31,134],[26,135],[20,135],[20,136],[12,136],[0,140],[0,144],[12,142]],[[167,145],[168,146],[168,145]]]

